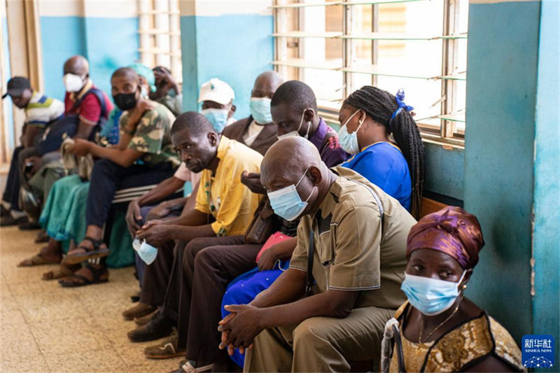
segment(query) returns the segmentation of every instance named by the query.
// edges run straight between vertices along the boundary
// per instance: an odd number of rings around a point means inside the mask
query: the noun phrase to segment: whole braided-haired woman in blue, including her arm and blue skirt
[[[338,136],[340,146],[353,154],[342,166],[362,174],[398,199],[405,209],[410,211],[412,206],[412,215],[418,218],[424,177],[424,148],[410,113],[412,107],[407,106],[404,99],[405,92],[402,90],[393,96],[377,87],[360,88],[340,108],[338,119],[342,127]],[[391,134],[395,143],[389,141]],[[285,241],[262,252],[257,268],[230,283],[222,301],[224,317],[228,311],[223,306],[251,302],[288,267],[295,246],[287,243]],[[235,363],[243,366],[243,359],[236,351],[233,356]]]

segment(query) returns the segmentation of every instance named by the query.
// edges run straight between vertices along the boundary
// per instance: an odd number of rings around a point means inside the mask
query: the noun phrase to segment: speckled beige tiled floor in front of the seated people
[[[17,267],[41,245],[36,231],[0,229],[0,372],[169,372],[180,358],[147,360],[121,312],[137,291],[133,269],[111,269],[109,283],[62,288],[43,281],[54,266]]]

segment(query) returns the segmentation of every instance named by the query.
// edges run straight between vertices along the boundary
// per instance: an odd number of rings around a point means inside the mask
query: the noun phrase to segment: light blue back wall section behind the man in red
[[[139,59],[137,30],[137,17],[41,17],[45,94],[64,99],[64,61],[83,55],[94,84],[111,96],[111,73]]]

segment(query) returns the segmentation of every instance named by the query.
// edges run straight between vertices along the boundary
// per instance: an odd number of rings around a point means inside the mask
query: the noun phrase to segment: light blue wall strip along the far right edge
[[[535,130],[533,331],[556,339],[560,363],[560,3],[543,1]]]

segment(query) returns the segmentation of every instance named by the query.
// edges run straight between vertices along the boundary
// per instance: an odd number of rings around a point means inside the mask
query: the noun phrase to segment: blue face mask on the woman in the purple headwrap
[[[430,277],[413,276],[405,272],[400,290],[405,292],[412,307],[427,316],[435,316],[447,311],[459,296],[458,286],[461,285],[465,272],[458,282],[443,281]]]

